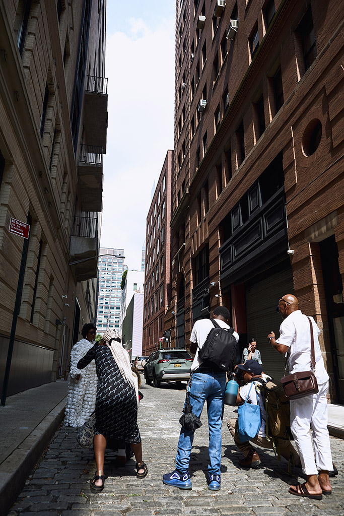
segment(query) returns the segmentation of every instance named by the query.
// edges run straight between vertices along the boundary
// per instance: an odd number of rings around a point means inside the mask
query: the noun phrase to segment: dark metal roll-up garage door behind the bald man
[[[264,372],[275,380],[283,376],[285,359],[272,348],[267,335],[271,331],[276,338],[280,335],[282,317],[276,307],[281,296],[293,293],[291,267],[245,284],[247,336],[256,338]]]

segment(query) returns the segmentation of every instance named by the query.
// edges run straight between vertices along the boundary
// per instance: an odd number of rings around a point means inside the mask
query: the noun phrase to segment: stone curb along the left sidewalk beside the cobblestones
[[[6,515],[22,491],[25,481],[51,442],[64,417],[66,398],[48,413],[0,468],[0,514]]]

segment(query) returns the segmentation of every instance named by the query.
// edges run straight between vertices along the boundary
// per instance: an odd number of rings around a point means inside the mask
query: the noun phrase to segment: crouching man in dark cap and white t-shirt
[[[264,407],[263,396],[261,395],[261,391],[259,387],[261,387],[262,383],[259,379],[263,379],[265,382],[271,380],[268,375],[263,373],[263,367],[261,367],[258,362],[255,360],[247,360],[244,364],[239,364],[238,369],[242,370],[242,377],[245,382],[247,382],[241,389],[238,391],[237,395],[237,405],[240,405],[243,401],[248,398],[248,403],[252,403],[252,405],[257,405],[257,395],[260,407],[261,414],[261,426],[259,431],[254,439],[251,439],[251,442],[261,446],[262,448],[273,449],[274,444],[277,449],[281,453],[282,457],[289,460],[290,457],[293,458],[293,464],[295,466],[301,466],[300,458],[297,451],[292,447],[290,441],[288,439],[275,439],[275,443],[272,441],[268,441],[266,438],[266,411]],[[252,385],[252,383],[254,385]],[[258,389],[256,389],[258,386]],[[227,423],[228,430],[231,432],[235,444],[239,448],[239,450],[243,453],[244,459],[239,459],[239,464],[241,467],[257,467],[260,464],[260,459],[257,454],[257,451],[254,449],[250,441],[242,443],[238,436],[238,419],[232,418]]]

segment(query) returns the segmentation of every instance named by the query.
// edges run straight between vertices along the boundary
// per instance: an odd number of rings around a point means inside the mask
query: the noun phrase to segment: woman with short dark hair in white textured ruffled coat
[[[82,426],[95,409],[98,378],[94,360],[83,370],[76,367],[78,361],[94,345],[95,334],[96,328],[93,324],[85,324],[81,330],[81,335],[84,338],[74,344],[71,351],[71,369],[64,424],[74,428]]]

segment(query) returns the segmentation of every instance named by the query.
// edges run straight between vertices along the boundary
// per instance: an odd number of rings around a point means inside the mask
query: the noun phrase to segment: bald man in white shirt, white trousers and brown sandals
[[[290,374],[309,371],[311,369],[310,325],[307,316],[299,310],[299,301],[291,294],[280,298],[277,309],[283,322],[280,326],[279,338],[275,338],[273,331],[268,335],[272,347],[281,354],[289,353]],[[329,430],[327,430],[326,399],[329,375],[326,373],[321,356],[318,340],[320,330],[313,317],[310,317],[310,321],[314,335],[315,376],[319,392],[304,398],[290,400],[290,429],[299,450],[307,481],[298,486],[291,486],[289,493],[306,498],[321,499],[323,494],[332,493],[329,471],[333,469],[333,465]],[[309,433],[310,428],[313,430],[314,451]]]

